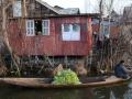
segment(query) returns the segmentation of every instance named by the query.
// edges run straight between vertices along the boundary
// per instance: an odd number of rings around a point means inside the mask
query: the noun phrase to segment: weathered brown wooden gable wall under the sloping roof
[[[14,0],[15,2],[16,0]],[[43,16],[50,16],[50,15],[56,15],[57,13],[52,11],[51,9],[46,8],[45,6],[41,4],[40,2],[35,0],[26,0],[25,2],[25,10],[23,7],[23,0],[22,2],[22,14],[24,16],[24,12],[26,12],[25,18],[43,18]],[[7,10],[8,18],[13,18],[13,6],[10,6]],[[15,18],[15,16],[14,16]]]

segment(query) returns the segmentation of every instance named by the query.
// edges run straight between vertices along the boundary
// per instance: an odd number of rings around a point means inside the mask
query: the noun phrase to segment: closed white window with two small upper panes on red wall
[[[80,41],[79,24],[62,24],[63,41]]]

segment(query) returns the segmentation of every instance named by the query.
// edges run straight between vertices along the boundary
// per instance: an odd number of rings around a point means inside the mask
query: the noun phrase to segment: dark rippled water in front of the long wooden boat
[[[0,99],[132,99],[132,81],[85,89],[28,89],[1,85]]]

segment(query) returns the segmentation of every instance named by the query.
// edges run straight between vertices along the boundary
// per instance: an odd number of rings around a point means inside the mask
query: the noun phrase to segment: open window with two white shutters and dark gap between
[[[26,35],[50,35],[50,20],[26,20]]]

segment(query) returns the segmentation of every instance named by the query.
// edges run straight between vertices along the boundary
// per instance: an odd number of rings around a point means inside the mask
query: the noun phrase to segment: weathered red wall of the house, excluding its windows
[[[80,24],[80,41],[63,41],[62,24]],[[11,20],[9,38],[19,55],[86,56],[91,50],[91,19],[88,16],[50,18],[50,35],[26,36],[25,20]]]

